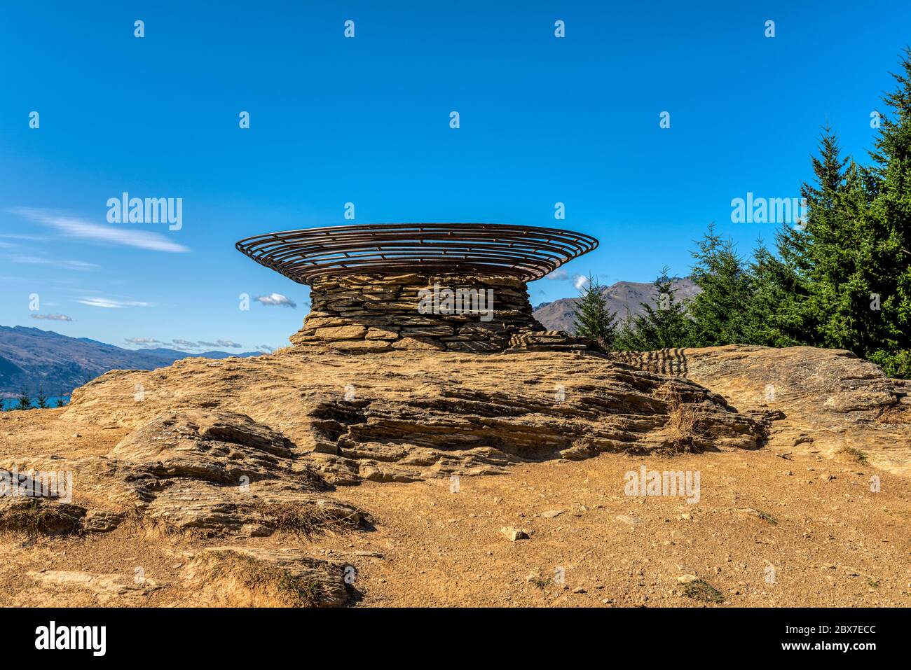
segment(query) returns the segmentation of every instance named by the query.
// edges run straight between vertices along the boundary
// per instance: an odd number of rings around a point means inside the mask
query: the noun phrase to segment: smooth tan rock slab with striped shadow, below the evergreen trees
[[[722,394],[768,424],[775,449],[854,454],[911,475],[911,382],[850,351],[731,345],[614,357]]]

